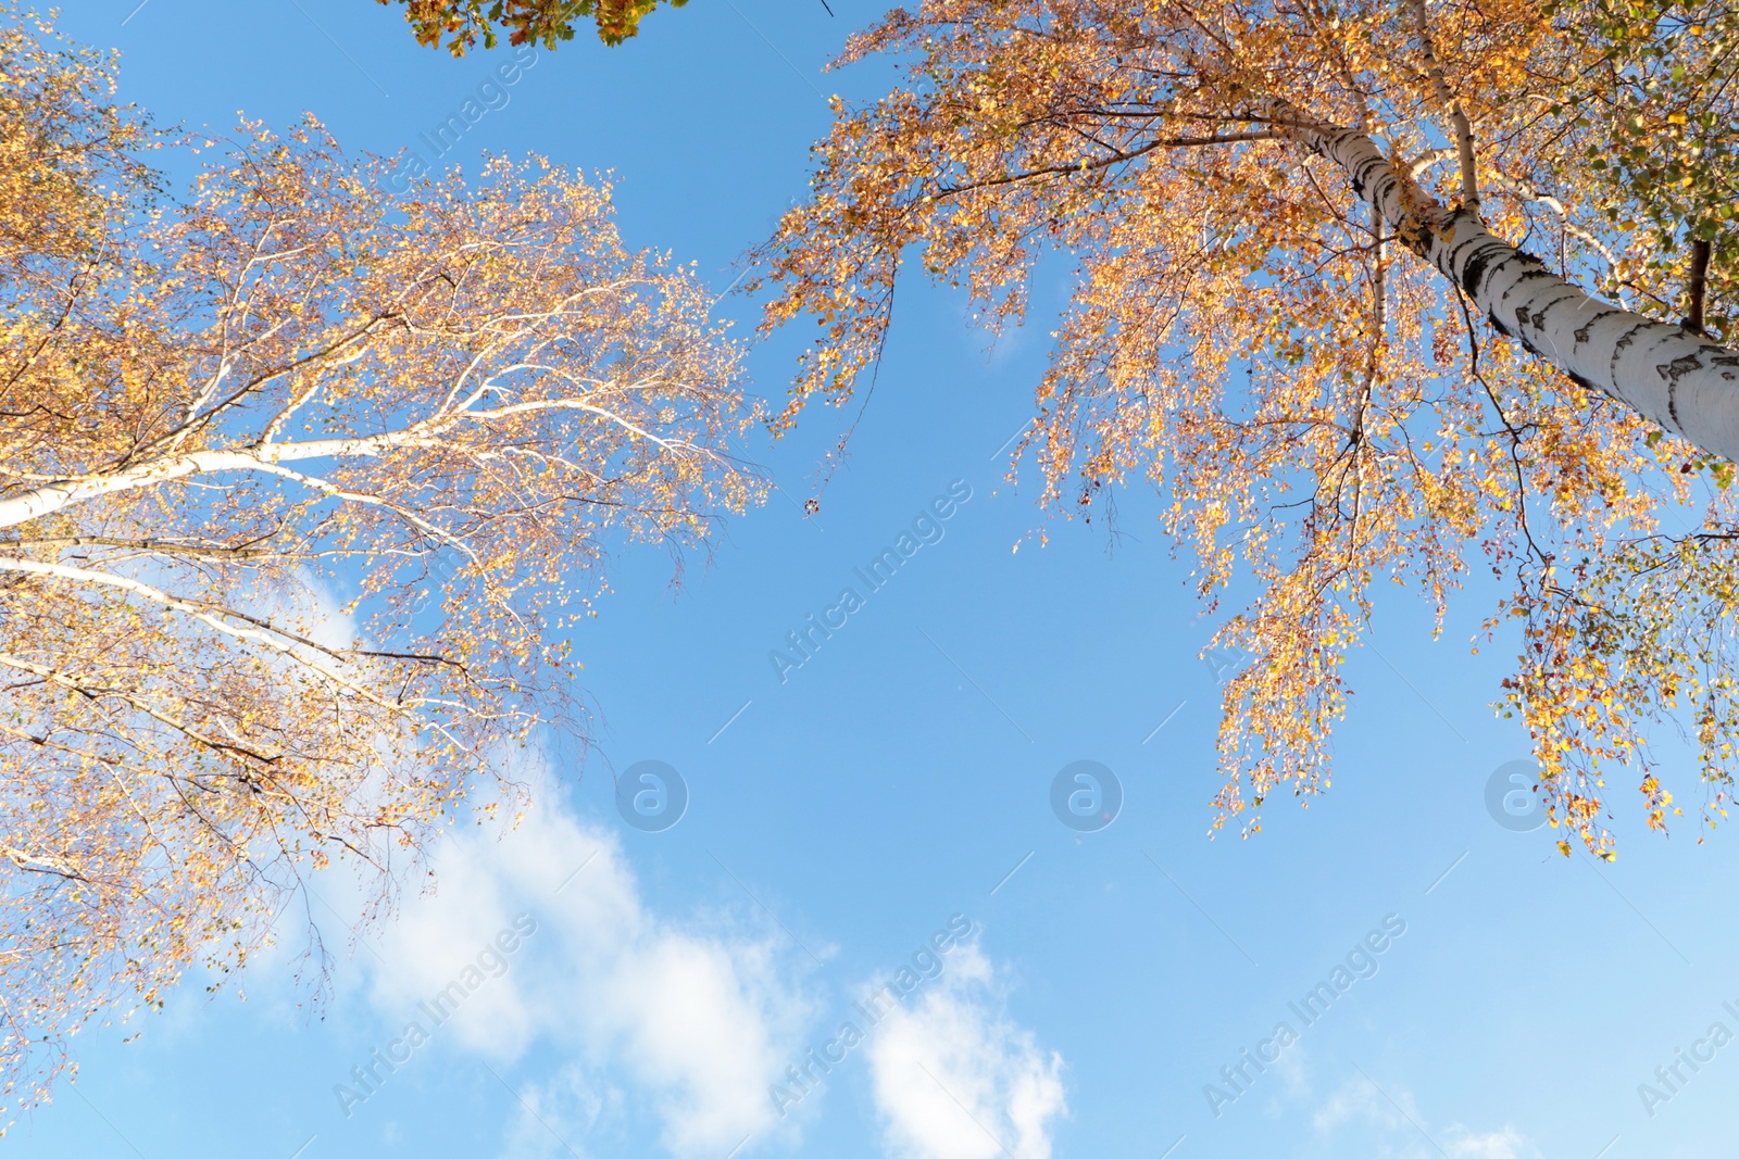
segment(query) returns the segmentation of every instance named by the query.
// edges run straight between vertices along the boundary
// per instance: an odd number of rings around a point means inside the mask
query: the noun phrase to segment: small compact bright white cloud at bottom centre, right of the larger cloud
[[[894,1154],[911,1159],[1049,1159],[1050,1123],[1066,1114],[1063,1058],[1007,1015],[976,945],[916,1004],[897,1008],[870,1043],[876,1110]]]

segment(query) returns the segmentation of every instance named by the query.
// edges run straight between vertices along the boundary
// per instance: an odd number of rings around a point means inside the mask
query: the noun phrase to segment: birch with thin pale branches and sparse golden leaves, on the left
[[[174,144],[0,10],[0,1069],[370,912],[503,758],[579,730],[600,565],[758,492],[692,271],[541,162],[388,198],[318,123]],[[583,735],[583,733],[581,733]],[[508,792],[494,792],[497,787]],[[311,949],[320,954],[318,945]],[[17,1102],[14,1102],[16,1109]]]

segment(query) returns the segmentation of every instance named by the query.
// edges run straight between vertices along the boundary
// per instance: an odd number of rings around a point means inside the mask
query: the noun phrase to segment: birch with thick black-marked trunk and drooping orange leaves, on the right
[[[1254,655],[1224,690],[1216,827],[1250,834],[1268,794],[1327,787],[1377,586],[1417,586],[1442,627],[1475,566],[1504,593],[1485,634],[1520,638],[1499,707],[1532,737],[1560,848],[1612,855],[1614,772],[1650,825],[1680,811],[1675,784],[1715,824],[1739,723],[1739,353],[1720,344],[1730,281],[1704,280],[1687,328],[1671,280],[1692,236],[1723,252],[1732,205],[1649,217],[1687,186],[1636,163],[1657,118],[1694,130],[1673,148],[1708,188],[1730,174],[1697,142],[1730,142],[1709,113],[1732,56],[1704,59],[1720,28],[1687,12],[897,9],[840,63],[892,56],[904,82],[835,99],[812,195],[762,252],[765,327],[816,325],[779,422],[849,396],[904,259],[991,328],[1023,316],[1035,264],[1066,261],[1073,301],[1016,455],[1089,520],[1144,478],[1210,606],[1235,575],[1256,584],[1214,639]],[[1706,83],[1680,71],[1675,97],[1659,52]],[[1697,770],[1661,766],[1662,721]]]

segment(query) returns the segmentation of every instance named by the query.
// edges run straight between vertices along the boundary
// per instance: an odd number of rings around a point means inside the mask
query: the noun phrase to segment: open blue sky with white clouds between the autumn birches
[[[417,49],[396,9],[362,0],[136,3],[78,0],[63,17],[122,49],[125,99],[216,129],[238,109],[277,125],[311,109],[358,153],[416,148],[504,59]],[[696,261],[723,290],[802,195],[823,94],[892,80],[885,61],[819,71],[876,14],[833,10],[694,0],[628,47],[539,52],[452,156],[610,170],[628,243]],[[1035,323],[995,348],[956,295],[903,287],[816,518],[800,502],[849,414],[816,410],[755,448],[781,492],[711,560],[689,560],[678,593],[656,549],[616,563],[616,591],[574,638],[596,751],[520,758],[541,789],[516,832],[442,839],[438,895],[350,947],[339,884],[311,900],[339,956],[316,1010],[292,945],[250,971],[247,1001],[191,978],[162,1015],[87,1032],[77,1086],[0,1150],[1619,1159],[1729,1145],[1732,838],[1697,844],[1682,822],[1661,839],[1626,811],[1605,867],[1558,857],[1549,829],[1494,820],[1487,782],[1527,745],[1489,707],[1513,648],[1468,648],[1492,593],[1464,593],[1436,643],[1426,608],[1386,593],[1349,664],[1332,791],[1308,810],[1269,801],[1256,839],[1209,838],[1217,686],[1198,653],[1214,624],[1155,528],[1158,500],[1123,495],[1109,537],[1047,520],[1029,464],[1019,485],[1003,478],[1064,276],[1040,271]],[[741,299],[720,313],[751,327]],[[793,339],[755,349],[758,393],[779,398],[793,353]],[[781,681],[769,653],[948,495],[951,514],[923,525],[934,542]],[[1662,754],[1696,801],[1689,761]],[[612,772],[640,761],[689,789],[661,832],[616,808]],[[1075,761],[1122,784],[1109,827],[1052,813]],[[903,968],[909,990],[871,1023],[856,1004],[901,989]],[[419,1004],[452,982],[464,999],[435,1025]],[[1334,1001],[1301,1013],[1323,982]],[[426,1041],[407,1041],[412,1020]],[[843,1043],[847,1022],[861,1041]],[[386,1070],[377,1048],[405,1062]],[[824,1083],[793,1083],[810,1050],[842,1060]],[[1264,1051],[1257,1070],[1247,1058]],[[367,1065],[377,1083],[355,1079]],[[1645,1083],[1662,1098],[1645,1105]]]

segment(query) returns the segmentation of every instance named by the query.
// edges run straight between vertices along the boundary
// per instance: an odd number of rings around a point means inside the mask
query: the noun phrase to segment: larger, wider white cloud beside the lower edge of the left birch
[[[438,893],[384,931],[390,966],[367,959],[374,1004],[416,1018],[452,982],[476,982],[431,1037],[450,1034],[503,1062],[548,1039],[588,1074],[638,1088],[680,1157],[716,1159],[770,1129],[767,1088],[800,1051],[812,1013],[793,950],[730,916],[654,912],[614,834],[548,792],[536,798],[543,805],[499,839],[480,829],[440,843]],[[536,931],[501,954],[496,937],[522,912]],[[515,1145],[534,1147],[522,1128]]]

